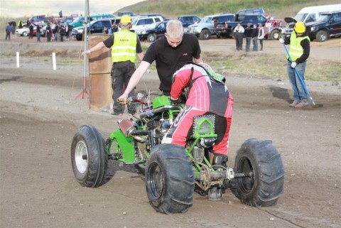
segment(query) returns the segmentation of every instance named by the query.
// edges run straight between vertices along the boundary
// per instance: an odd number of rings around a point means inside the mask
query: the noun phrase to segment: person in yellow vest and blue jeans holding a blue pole
[[[289,107],[305,107],[309,102],[304,85],[302,85],[299,79],[301,76],[304,82],[305,67],[307,66],[307,60],[310,55],[310,38],[308,32],[305,31],[305,24],[302,21],[298,21],[291,35],[288,38],[280,38],[279,42],[290,44],[289,55],[291,60],[287,56],[288,65],[286,71],[288,72],[291,87],[293,87],[293,103]],[[296,74],[295,67],[300,75]]]

